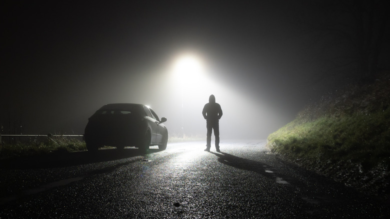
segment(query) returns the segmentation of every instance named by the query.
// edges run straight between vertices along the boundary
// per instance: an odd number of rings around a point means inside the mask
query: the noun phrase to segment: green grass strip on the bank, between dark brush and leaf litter
[[[370,115],[295,119],[268,136],[272,151],[316,160],[351,160],[369,169],[390,157],[390,110]]]

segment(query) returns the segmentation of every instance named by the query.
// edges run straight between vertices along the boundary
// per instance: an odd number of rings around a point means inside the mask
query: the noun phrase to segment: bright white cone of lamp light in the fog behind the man
[[[163,87],[158,90],[164,91],[161,111],[166,112],[171,136],[205,139],[206,122],[201,111],[210,94],[215,95],[223,111],[219,120],[221,139],[266,137],[269,129],[274,129],[280,115],[264,100],[269,94],[245,91],[240,71],[222,64],[198,52],[176,53],[168,59],[161,74],[164,77],[159,80]],[[236,76],[228,80],[224,75]]]

